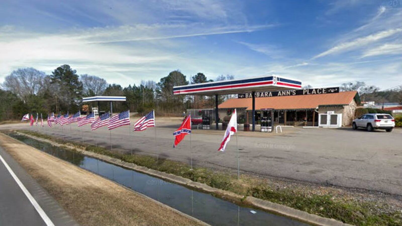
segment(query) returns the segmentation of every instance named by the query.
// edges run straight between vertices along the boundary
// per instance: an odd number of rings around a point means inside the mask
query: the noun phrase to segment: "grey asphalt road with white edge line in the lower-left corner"
[[[0,156],[35,201],[39,203],[40,208],[49,217],[51,224],[78,225],[2,148],[0,148]],[[39,215],[37,209],[34,208],[2,161],[0,161],[0,225],[49,225],[49,222],[46,224]]]

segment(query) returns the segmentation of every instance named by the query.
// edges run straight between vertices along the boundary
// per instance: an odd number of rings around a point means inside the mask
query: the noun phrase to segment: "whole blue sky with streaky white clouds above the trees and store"
[[[176,69],[402,84],[398,1],[3,0],[0,15],[0,82],[16,68],[70,64],[122,86]]]

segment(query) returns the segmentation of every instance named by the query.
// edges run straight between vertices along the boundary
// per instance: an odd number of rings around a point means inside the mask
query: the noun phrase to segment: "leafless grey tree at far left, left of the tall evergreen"
[[[6,76],[2,86],[26,101],[29,95],[37,95],[43,89],[45,73],[35,68],[20,68]]]

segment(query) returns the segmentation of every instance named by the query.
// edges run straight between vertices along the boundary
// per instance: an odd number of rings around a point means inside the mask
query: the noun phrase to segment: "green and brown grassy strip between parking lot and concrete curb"
[[[242,174],[240,180],[236,174],[225,171],[216,171],[209,168],[198,167],[191,170],[188,164],[172,160],[157,160],[152,156],[137,154],[121,154],[111,152],[103,147],[80,144],[39,134],[32,131],[23,133],[45,138],[60,144],[75,146],[86,151],[103,154],[113,158],[132,162],[139,166],[145,166],[165,173],[171,173],[205,183],[211,187],[232,191],[243,196],[256,198],[287,205],[297,210],[302,210],[318,216],[334,218],[354,225],[402,225],[402,212],[390,208],[387,201],[361,201],[353,195],[339,195],[337,189],[323,187],[319,192],[304,190],[304,187],[279,187],[266,178]]]

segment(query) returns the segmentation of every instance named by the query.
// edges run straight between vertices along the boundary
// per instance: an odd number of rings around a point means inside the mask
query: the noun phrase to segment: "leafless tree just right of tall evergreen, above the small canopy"
[[[107,88],[107,82],[103,78],[98,76],[92,76],[88,74],[82,74],[80,76],[82,82],[82,88],[85,96],[99,96],[105,92]]]

